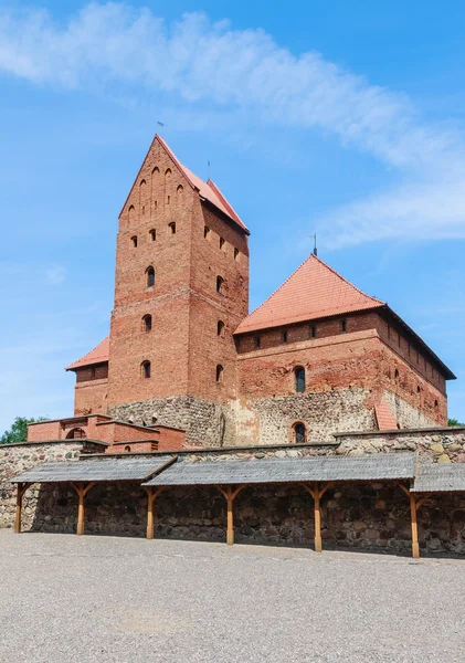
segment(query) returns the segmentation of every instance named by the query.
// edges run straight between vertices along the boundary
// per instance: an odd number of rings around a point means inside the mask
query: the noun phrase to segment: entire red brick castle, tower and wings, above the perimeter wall
[[[119,215],[110,334],[67,367],[74,418],[29,441],[134,452],[446,425],[451,370],[316,255],[249,315],[249,234],[156,136]]]

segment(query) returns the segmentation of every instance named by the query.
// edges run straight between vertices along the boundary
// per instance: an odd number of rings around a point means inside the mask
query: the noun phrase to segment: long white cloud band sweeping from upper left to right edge
[[[400,93],[316,52],[294,55],[262,30],[232,30],[204,14],[167,25],[148,9],[92,3],[67,24],[45,11],[0,12],[0,71],[35,84],[115,84],[169,93],[200,109],[336,134],[398,173],[389,191],[320,219],[334,244],[387,238],[465,238],[464,138],[421,120]],[[328,233],[325,233],[328,235]]]

